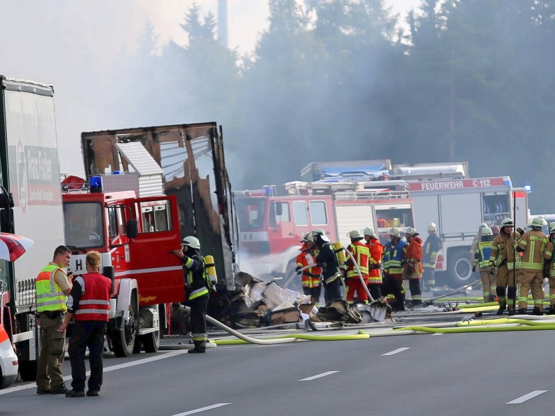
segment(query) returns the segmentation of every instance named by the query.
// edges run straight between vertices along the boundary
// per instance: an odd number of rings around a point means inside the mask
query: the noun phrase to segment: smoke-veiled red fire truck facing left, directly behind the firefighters
[[[288,182],[234,193],[239,222],[239,267],[253,275],[285,277],[299,288],[294,271],[306,232],[324,229],[330,241],[350,240],[351,229],[374,227],[386,238],[391,227],[413,226],[407,182]]]

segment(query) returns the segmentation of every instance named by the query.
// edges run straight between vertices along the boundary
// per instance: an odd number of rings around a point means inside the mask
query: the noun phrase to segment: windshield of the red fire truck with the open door
[[[69,248],[103,247],[102,206],[98,202],[65,202],[64,225]]]

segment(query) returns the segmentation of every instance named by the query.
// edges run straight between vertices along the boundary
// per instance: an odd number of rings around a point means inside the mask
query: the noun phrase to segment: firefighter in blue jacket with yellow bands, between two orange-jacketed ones
[[[401,233],[395,227],[389,229],[389,241],[384,247],[384,292],[393,295],[395,302],[393,311],[404,311],[404,286],[402,261],[407,241],[401,239]]]

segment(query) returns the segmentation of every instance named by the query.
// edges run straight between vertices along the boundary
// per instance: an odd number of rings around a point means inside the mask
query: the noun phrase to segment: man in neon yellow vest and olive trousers
[[[44,266],[35,279],[41,344],[37,360],[37,395],[62,395],[67,392],[62,374],[65,334],[59,332],[58,328],[64,319],[67,295],[71,291],[71,283],[65,272],[70,260],[69,248],[58,245],[52,261]]]

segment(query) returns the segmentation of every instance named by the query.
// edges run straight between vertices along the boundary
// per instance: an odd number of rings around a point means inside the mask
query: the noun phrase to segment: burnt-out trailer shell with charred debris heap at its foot
[[[177,198],[181,236],[197,236],[203,254],[214,257],[218,279],[208,314],[216,320],[241,329],[372,319],[367,306],[360,305],[357,311],[340,301],[318,310],[309,304],[309,296],[239,270],[239,223],[225,168],[223,130],[217,123],[84,132],[81,141],[87,177],[132,172],[133,166],[117,148],[122,143],[140,142],[162,168],[164,193]],[[173,304],[166,332],[187,333],[187,315],[182,305]]]

